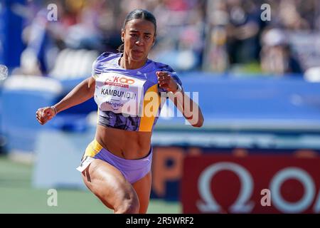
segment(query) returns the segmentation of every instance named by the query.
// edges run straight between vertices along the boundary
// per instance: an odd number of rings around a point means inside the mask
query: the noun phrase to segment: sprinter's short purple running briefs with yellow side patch
[[[87,146],[87,150],[85,151],[85,155],[83,156],[82,164],[86,160],[86,157],[93,157],[95,159],[100,159],[102,161],[108,162],[110,165],[113,165],[120,172],[122,172],[122,175],[124,175],[128,182],[133,184],[134,182],[142,179],[142,177],[147,175],[151,170],[152,145],[150,146],[149,154],[146,155],[146,157],[137,160],[127,160],[112,154],[112,152],[99,145],[96,140],[93,140]],[[90,162],[86,162],[85,167],[87,167],[87,165],[89,164]],[[80,165],[80,167],[82,167],[82,165]],[[82,167],[82,170],[84,170],[85,167]]]

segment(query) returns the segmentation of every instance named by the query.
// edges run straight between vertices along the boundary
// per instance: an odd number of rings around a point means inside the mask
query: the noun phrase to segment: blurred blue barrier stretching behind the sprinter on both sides
[[[198,92],[205,116],[203,128],[184,125],[181,117],[159,118],[156,130],[320,133],[320,83],[308,83],[302,78],[235,78],[206,73],[188,73],[180,77],[186,91]],[[9,139],[9,150],[32,151],[40,129],[85,131],[87,113],[97,110],[93,99],[65,110],[45,126],[39,125],[35,117],[37,108],[58,102],[83,79],[61,81],[60,93],[4,88],[1,121],[2,132]]]

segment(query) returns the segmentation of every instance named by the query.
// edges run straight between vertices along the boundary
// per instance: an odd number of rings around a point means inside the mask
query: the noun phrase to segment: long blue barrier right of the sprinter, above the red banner
[[[235,78],[198,73],[181,76],[186,91],[198,92],[204,128],[313,130],[320,133],[320,83],[298,77]],[[159,126],[178,128],[178,118]]]

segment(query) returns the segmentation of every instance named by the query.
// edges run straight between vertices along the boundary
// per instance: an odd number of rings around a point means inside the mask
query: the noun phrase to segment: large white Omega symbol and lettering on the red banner
[[[214,175],[222,170],[230,170],[240,179],[240,191],[235,202],[230,206],[232,213],[250,213],[255,206],[255,202],[250,201],[253,190],[252,175],[245,167],[235,162],[217,162],[206,167],[198,179],[198,192],[202,200],[198,200],[196,205],[201,212],[221,212],[221,206],[215,200],[210,189],[210,182]],[[288,202],[282,197],[280,192],[282,184],[289,179],[298,180],[304,187],[304,195],[297,202]],[[301,213],[308,209],[316,195],[316,187],[312,177],[301,168],[286,167],[274,174],[270,180],[270,192],[272,204],[280,212]],[[320,192],[313,207],[315,213],[320,212]]]

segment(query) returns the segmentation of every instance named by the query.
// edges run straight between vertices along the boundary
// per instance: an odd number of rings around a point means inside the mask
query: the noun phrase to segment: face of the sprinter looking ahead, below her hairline
[[[155,41],[154,24],[144,19],[134,19],[127,22],[122,31],[124,53],[131,61],[146,61],[149,51]]]

